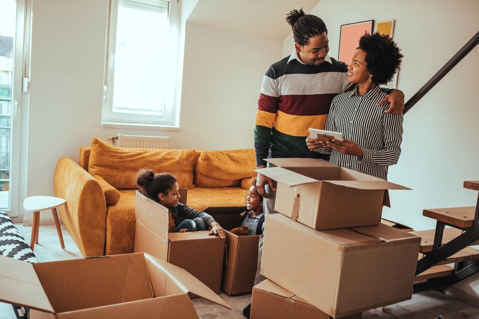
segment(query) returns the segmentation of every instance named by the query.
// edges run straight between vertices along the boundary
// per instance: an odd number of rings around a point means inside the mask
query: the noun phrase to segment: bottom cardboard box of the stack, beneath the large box
[[[298,296],[266,279],[253,288],[250,319],[315,318],[331,319],[328,314],[311,306]],[[361,319],[362,314],[346,316],[344,319]]]

